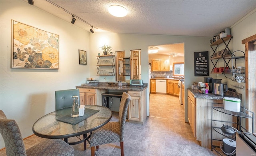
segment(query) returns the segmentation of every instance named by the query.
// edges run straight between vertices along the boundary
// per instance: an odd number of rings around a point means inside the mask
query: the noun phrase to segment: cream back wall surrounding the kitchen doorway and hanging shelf
[[[104,42],[102,42],[104,40]],[[170,35],[140,35],[140,34],[115,34],[115,33],[97,33],[90,35],[90,49],[92,51],[92,62],[96,62],[98,52],[102,53],[98,47],[105,43],[112,46],[113,51],[125,50],[126,57],[130,56],[130,50],[141,49],[141,78],[144,83],[148,83],[148,46],[163,45],[184,42],[185,51],[185,88],[190,88],[193,82],[203,82],[202,76],[194,76],[194,52],[210,51],[210,37],[193,36],[170,36]],[[94,65],[94,66],[93,66]],[[91,76],[96,76],[96,63],[91,64]],[[210,68],[212,65],[210,64]],[[104,77],[98,77],[104,81]],[[115,76],[108,76],[108,82],[114,82]],[[148,93],[149,88],[147,89]],[[148,94],[147,94],[148,96]],[[185,90],[185,97],[187,90]],[[185,100],[185,111],[187,112],[187,100]],[[187,113],[184,120],[187,120]]]

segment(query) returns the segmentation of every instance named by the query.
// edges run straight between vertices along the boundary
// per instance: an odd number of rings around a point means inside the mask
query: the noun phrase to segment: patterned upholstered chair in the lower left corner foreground
[[[2,110],[0,127],[7,156],[74,156],[74,148],[61,139],[46,139],[26,150],[18,124],[7,119]]]

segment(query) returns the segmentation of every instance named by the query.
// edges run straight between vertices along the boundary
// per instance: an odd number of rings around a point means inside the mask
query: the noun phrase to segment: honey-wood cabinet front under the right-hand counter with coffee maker
[[[188,122],[191,126],[194,137],[196,137],[196,98],[188,90]]]

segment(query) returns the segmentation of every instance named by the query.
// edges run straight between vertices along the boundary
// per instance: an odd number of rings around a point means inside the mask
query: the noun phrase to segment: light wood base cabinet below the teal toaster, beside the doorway
[[[128,120],[138,124],[143,124],[146,120],[146,90],[128,91],[131,100],[128,106]]]

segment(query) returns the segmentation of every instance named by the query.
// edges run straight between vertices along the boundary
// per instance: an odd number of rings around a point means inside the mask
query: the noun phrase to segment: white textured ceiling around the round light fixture
[[[25,0],[26,1],[26,0]],[[256,0],[34,0],[34,6],[71,22],[83,19],[97,31],[128,34],[214,36],[256,8]],[[128,15],[118,18],[108,13],[112,4],[124,6]],[[76,18],[75,24],[90,26]]]

